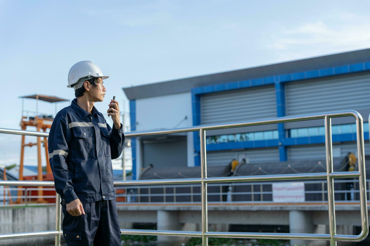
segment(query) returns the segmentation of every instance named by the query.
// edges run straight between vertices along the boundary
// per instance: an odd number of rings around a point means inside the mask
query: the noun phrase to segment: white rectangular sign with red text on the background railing
[[[305,183],[279,182],[272,184],[273,202],[304,202]]]

